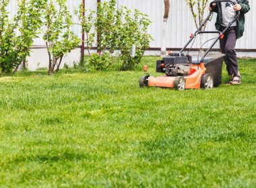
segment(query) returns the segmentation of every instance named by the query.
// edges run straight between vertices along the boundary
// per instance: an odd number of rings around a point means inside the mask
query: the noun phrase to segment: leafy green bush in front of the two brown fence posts
[[[89,64],[96,71],[102,71],[117,61],[115,50],[118,50],[119,27],[121,24],[122,13],[117,10],[116,0],[98,1],[97,12],[86,10],[86,16],[83,15],[84,9],[80,5],[77,12],[82,26],[82,32],[85,32],[88,54],[90,56]],[[96,18],[94,18],[96,17]],[[97,54],[92,54],[90,48],[94,44],[95,31],[97,31]]]

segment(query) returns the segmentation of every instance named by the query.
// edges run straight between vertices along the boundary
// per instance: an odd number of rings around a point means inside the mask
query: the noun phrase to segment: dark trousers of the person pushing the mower
[[[220,31],[224,31],[224,27],[220,28]],[[228,71],[228,75],[234,75],[234,77],[238,76],[239,68],[236,56],[236,50],[234,50],[236,46],[236,27],[230,27],[224,33],[224,38],[220,39],[220,49],[222,50],[222,54],[226,54],[225,63],[226,70]]]

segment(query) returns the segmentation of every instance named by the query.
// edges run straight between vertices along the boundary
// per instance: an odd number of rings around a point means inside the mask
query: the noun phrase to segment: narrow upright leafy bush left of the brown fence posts
[[[72,15],[67,0],[48,0],[44,9],[44,40],[49,54],[49,71],[59,71],[63,57],[79,44],[79,38],[71,32]]]

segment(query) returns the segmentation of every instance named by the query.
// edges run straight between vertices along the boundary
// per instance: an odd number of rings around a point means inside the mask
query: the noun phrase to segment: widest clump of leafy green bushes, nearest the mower
[[[93,32],[98,32],[98,55],[93,56],[93,60],[90,61],[94,62],[93,64],[90,63],[94,66],[94,69],[97,71],[104,70],[110,64],[117,62],[119,58],[123,60],[121,68],[123,71],[133,69],[140,62],[152,40],[152,37],[148,34],[148,26],[151,23],[148,16],[138,10],[135,10],[135,13],[131,13],[127,7],[117,8],[116,0],[98,3],[97,13],[86,11],[88,13],[84,17],[83,12],[81,5],[79,20],[82,23],[83,30],[86,32],[86,44],[90,56],[90,48],[95,42]],[[96,17],[96,19],[93,17]],[[136,49],[135,56],[131,55],[133,46]],[[119,51],[119,53],[115,54],[115,51]],[[106,60],[108,54],[110,57]],[[98,63],[97,60],[99,61]]]

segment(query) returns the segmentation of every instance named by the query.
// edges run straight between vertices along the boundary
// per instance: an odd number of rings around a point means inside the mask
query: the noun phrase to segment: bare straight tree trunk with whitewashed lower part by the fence
[[[162,48],[161,48],[161,56],[166,56],[166,34],[167,30],[167,21],[170,12],[170,0],[164,0],[164,21],[162,25]]]

